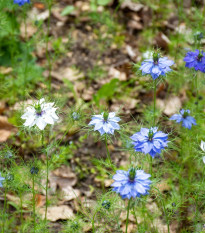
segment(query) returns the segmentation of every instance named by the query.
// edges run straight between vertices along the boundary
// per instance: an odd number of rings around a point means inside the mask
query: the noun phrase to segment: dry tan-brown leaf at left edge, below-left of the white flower
[[[16,129],[8,122],[8,118],[0,116],[0,142],[5,142],[14,132]]]

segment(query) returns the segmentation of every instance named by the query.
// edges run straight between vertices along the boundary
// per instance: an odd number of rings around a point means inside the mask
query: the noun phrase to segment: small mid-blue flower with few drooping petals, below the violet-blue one
[[[192,125],[196,125],[196,120],[192,117],[189,116],[190,110],[180,110],[180,114],[174,114],[171,116],[169,119],[176,121],[177,123],[182,122],[182,126],[191,129]]]

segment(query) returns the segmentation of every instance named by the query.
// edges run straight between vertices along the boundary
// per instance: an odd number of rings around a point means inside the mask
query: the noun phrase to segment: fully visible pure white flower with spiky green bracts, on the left
[[[46,103],[44,98],[40,99],[33,106],[27,107],[21,116],[22,119],[26,120],[24,126],[31,128],[36,125],[40,130],[43,130],[47,124],[53,125],[59,119],[56,115],[56,109],[54,103]]]

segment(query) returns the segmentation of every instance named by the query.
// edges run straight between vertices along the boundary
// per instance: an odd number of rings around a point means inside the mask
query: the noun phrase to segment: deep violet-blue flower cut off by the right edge
[[[203,51],[200,52],[196,49],[195,52],[188,52],[184,61],[186,62],[186,67],[205,73],[205,53]]]

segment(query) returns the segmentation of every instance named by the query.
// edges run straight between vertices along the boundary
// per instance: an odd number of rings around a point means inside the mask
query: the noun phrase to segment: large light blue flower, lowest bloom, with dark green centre
[[[121,197],[130,199],[131,197],[140,197],[147,195],[150,189],[151,181],[148,179],[151,175],[143,170],[131,168],[129,171],[118,170],[113,176],[113,191],[119,193]]]

